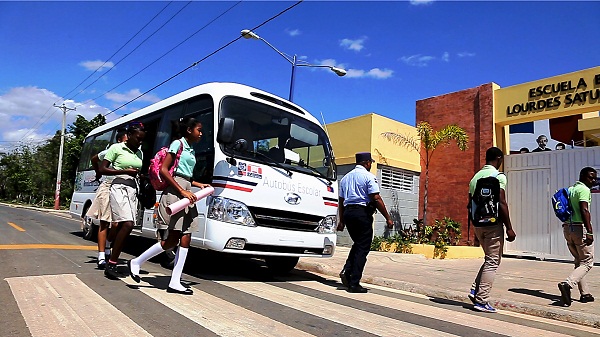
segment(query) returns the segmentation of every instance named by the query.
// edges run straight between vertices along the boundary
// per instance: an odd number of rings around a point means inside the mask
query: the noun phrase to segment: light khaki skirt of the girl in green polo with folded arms
[[[137,180],[132,176],[118,175],[110,185],[110,209],[112,221],[123,222],[137,219]]]

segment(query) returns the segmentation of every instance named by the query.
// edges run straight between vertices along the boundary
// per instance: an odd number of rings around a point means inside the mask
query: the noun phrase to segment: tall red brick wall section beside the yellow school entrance
[[[492,84],[417,101],[417,123],[426,121],[437,131],[456,124],[469,135],[468,149],[460,151],[456,142],[440,145],[429,164],[427,223],[449,217],[462,224],[461,244],[473,242],[473,228],[467,238],[469,181],[485,164],[485,151],[493,146]],[[423,217],[425,162],[421,162],[420,210]]]

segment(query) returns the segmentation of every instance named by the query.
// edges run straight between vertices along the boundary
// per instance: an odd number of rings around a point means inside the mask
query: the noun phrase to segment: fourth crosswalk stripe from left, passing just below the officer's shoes
[[[507,331],[510,331],[511,336],[544,336],[544,337],[552,337],[552,336],[564,336],[560,333],[555,333],[552,331],[541,330],[532,327],[526,327],[510,322],[495,320],[487,317],[477,317],[477,319],[472,319],[473,315],[467,313],[461,313],[454,310],[448,310],[444,308],[439,308],[427,304],[416,303],[412,301],[402,300],[398,298],[388,297],[384,295],[369,293],[361,296],[356,296],[350,294],[346,291],[339,291],[333,289],[331,286],[323,284],[322,282],[317,281],[288,281],[289,284],[299,285],[301,287],[318,290],[321,292],[341,296],[344,298],[356,299],[362,302],[371,303],[399,311],[417,313],[421,316],[429,317],[435,320],[446,321],[450,323],[460,324],[466,327],[472,327],[477,329],[485,329],[489,332],[494,332],[498,334],[505,334]],[[387,290],[387,289],[386,289]],[[520,318],[525,318],[525,315],[520,315]],[[566,323],[569,324],[569,323]],[[594,332],[592,329],[586,329],[586,327],[580,327],[576,324],[570,324],[569,327],[574,329],[580,329],[587,332]],[[595,331],[597,333],[597,331]]]

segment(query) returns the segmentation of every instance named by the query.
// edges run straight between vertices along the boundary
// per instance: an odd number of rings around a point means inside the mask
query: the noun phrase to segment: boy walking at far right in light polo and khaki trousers
[[[579,172],[579,181],[569,187],[569,203],[573,214],[563,223],[563,234],[573,255],[575,269],[565,281],[558,284],[563,305],[567,307],[571,305],[571,289],[575,286],[581,294],[580,302],[594,301],[584,278],[594,265],[594,233],[589,207],[592,202],[590,189],[596,183],[597,175],[594,168],[584,167]]]

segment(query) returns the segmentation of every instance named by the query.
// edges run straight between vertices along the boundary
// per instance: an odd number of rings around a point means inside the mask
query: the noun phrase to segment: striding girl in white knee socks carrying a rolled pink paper
[[[181,284],[181,274],[190,247],[192,233],[198,229],[198,209],[195,204],[196,195],[192,193],[191,188],[192,186],[205,188],[210,185],[193,180],[196,155],[191,144],[200,141],[202,124],[191,117],[183,118],[179,121],[179,135],[181,138],[171,143],[168,151],[169,155],[165,157],[160,167],[160,177],[169,186],[160,196],[157,220],[164,223],[168,231],[164,230],[164,227],[159,228],[163,229],[160,231],[162,236],[161,242],[157,242],[139,257],[130,260],[127,265],[131,278],[139,283],[140,268],[146,261],[179,244],[167,292],[191,295],[193,291]],[[182,148],[181,151],[179,151],[180,148]],[[173,176],[171,176],[169,168],[175,162],[178,152],[181,152],[179,163],[173,172]],[[167,207],[183,198],[189,199],[190,205],[178,213],[167,214]]]

